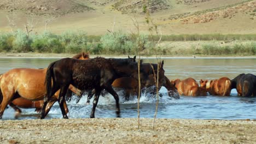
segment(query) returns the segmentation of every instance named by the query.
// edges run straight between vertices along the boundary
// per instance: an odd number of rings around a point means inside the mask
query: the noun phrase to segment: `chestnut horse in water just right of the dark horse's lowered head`
[[[176,79],[174,81],[171,81],[171,83],[177,88],[179,95],[187,95],[189,96],[189,90],[193,86],[197,86],[197,82],[189,77],[185,80]]]

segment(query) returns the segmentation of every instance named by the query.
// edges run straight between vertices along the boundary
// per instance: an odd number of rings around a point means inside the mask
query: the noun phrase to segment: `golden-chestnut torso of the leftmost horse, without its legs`
[[[45,94],[45,71],[46,69],[11,69],[2,76],[1,89],[9,95],[18,92],[27,99],[42,99]]]

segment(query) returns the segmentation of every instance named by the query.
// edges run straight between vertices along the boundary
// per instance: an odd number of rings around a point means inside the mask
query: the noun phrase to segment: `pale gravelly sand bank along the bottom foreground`
[[[256,121],[135,118],[0,121],[0,143],[256,143]]]

